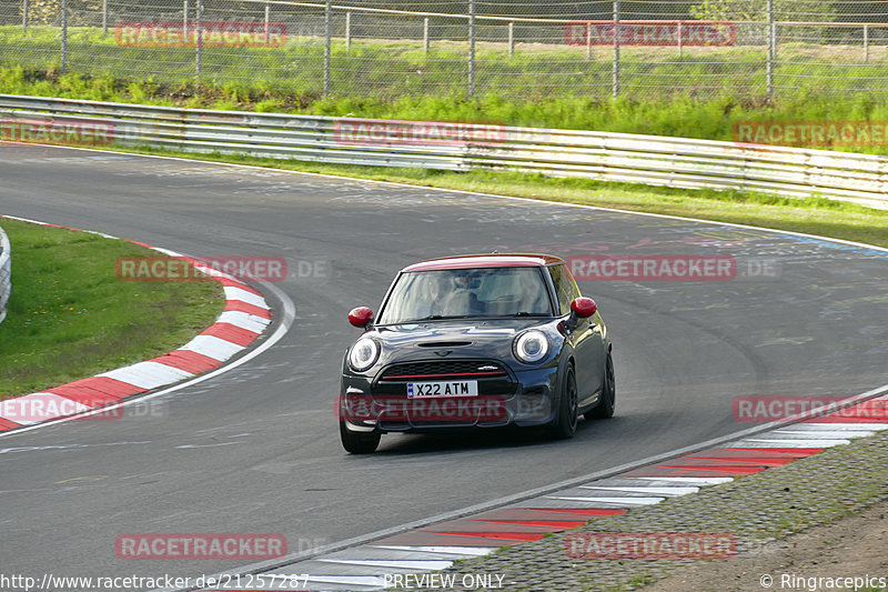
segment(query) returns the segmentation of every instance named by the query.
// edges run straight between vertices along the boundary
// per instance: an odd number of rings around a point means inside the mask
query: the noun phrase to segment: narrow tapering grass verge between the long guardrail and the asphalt
[[[117,150],[703,218],[719,222],[819,234],[888,248],[888,211],[872,210],[827,199],[796,200],[736,191],[692,191],[640,184],[605,183],[585,179],[553,179],[542,174],[526,173],[485,171],[462,173],[424,169],[316,164],[223,154],[196,155],[149,148]]]

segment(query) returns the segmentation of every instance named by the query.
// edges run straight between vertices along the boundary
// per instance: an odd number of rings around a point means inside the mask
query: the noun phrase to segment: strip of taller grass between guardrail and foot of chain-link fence
[[[256,71],[264,72],[261,69]],[[182,82],[161,82],[151,77],[138,78],[134,72],[119,76],[60,74],[52,69],[8,66],[0,68],[0,93],[311,116],[477,121],[720,141],[734,141],[735,126],[746,121],[888,121],[888,102],[866,92],[850,91],[841,100],[811,90],[776,101],[755,99],[736,91],[640,102],[592,96],[509,99],[495,93],[476,99],[422,93],[322,98],[317,92],[294,90],[262,78],[202,86],[188,81],[188,74],[182,74],[180,80]],[[888,154],[888,140],[836,148]]]

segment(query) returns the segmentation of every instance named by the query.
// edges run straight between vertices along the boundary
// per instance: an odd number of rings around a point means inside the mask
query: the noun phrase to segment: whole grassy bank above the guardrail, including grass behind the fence
[[[466,97],[466,50],[455,42],[425,54],[411,40],[334,39],[330,97],[323,97],[323,40],[292,37],[282,48],[205,48],[201,83],[194,48],[131,48],[113,31],[70,29],[68,71],[59,33],[0,27],[0,92],[191,108],[383,119],[486,121],[733,140],[748,120],[888,121],[888,51],[868,62],[850,46],[786,43],[765,98],[760,48],[623,49],[624,98],[612,94],[612,53],[558,44],[480,43],[476,97]],[[888,147],[845,149],[888,153]]]

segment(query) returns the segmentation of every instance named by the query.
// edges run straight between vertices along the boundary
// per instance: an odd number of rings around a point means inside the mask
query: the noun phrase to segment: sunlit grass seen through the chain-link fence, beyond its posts
[[[393,99],[418,94],[467,92],[467,46],[433,41],[426,54],[421,40],[354,39],[350,49],[341,37],[332,41],[331,89],[334,93]],[[334,34],[341,34],[336,32]],[[57,28],[0,27],[0,56],[7,63],[32,68],[60,66]],[[553,38],[545,43],[518,44],[513,56],[506,43],[480,42],[476,50],[476,87],[481,94],[511,96],[544,101],[564,97],[605,98],[612,93],[612,58],[608,47],[567,46]],[[622,86],[628,93],[647,98],[675,94],[761,96],[766,89],[763,47],[622,49]],[[828,87],[834,96],[880,93],[888,60],[874,48],[864,62],[862,48],[784,43],[778,52],[775,84],[781,93],[807,94]],[[69,69],[114,77],[149,78],[175,82],[195,76],[194,48],[122,47],[114,31],[69,27]],[[270,88],[317,96],[323,89],[324,40],[291,36],[280,48],[206,47],[202,51],[202,78],[220,84],[251,87],[256,72]],[[861,89],[867,89],[866,91]]]

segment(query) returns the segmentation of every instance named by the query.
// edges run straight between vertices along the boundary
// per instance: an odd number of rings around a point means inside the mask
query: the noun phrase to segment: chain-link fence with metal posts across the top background
[[[884,97],[886,48],[888,0],[0,0],[2,64],[312,96]]]

